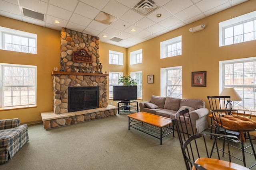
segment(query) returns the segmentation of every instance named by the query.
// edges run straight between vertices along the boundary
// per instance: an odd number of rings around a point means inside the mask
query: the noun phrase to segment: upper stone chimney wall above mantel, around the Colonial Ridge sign
[[[61,29],[61,58],[65,62],[65,71],[72,72],[71,66],[89,67],[90,63],[72,61],[73,52],[83,48],[92,57],[92,66],[95,73],[99,72],[99,43],[100,38],[89,34],[80,33],[70,29]]]

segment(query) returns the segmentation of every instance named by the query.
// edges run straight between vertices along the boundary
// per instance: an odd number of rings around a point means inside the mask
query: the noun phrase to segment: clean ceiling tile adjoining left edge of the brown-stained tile
[[[94,19],[100,10],[93,8],[87,4],[84,4],[82,2],[79,2],[78,6],[76,7],[75,11],[76,14],[79,14],[81,16],[85,16],[86,18]]]

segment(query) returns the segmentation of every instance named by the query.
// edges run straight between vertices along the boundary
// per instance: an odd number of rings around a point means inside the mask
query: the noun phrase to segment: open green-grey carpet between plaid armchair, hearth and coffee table
[[[126,114],[50,130],[30,125],[28,135],[30,141],[1,170],[186,169],[176,132],[160,145],[159,139],[129,131]]]

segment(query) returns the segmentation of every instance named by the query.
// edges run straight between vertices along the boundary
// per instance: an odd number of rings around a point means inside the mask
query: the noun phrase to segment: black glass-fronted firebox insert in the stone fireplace
[[[68,87],[68,112],[99,107],[99,87]]]

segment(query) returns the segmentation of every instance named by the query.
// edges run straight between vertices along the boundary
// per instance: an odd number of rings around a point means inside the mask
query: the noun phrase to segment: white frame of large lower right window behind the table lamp
[[[252,83],[251,85],[248,84],[242,84],[242,85],[226,85],[225,84],[225,64],[237,64],[237,63],[246,63],[246,62],[254,62],[256,63],[256,57],[250,57],[250,58],[243,58],[243,59],[233,59],[233,60],[226,60],[226,61],[220,61],[219,62],[219,82],[220,82],[220,88],[219,88],[219,94],[222,92],[222,90],[226,87],[232,87],[236,90],[236,88],[254,88],[254,94],[253,97],[253,101],[254,101],[254,109],[250,109],[248,107],[244,107],[246,106],[246,103],[244,102],[244,99],[246,98],[246,96],[244,95],[244,90],[240,90],[237,91],[238,94],[240,95],[240,97],[243,99],[243,101],[232,101],[232,105],[233,105],[233,109],[238,109],[238,110],[242,110],[242,111],[246,111],[248,113],[250,113],[250,111],[256,111],[256,68],[254,68],[254,73],[250,74],[249,77],[254,79],[254,84]],[[239,75],[240,76],[240,75]],[[245,78],[247,78],[248,76],[244,76]],[[236,77],[234,77],[236,78]],[[239,77],[238,77],[239,78]]]

